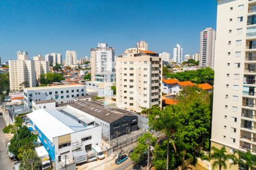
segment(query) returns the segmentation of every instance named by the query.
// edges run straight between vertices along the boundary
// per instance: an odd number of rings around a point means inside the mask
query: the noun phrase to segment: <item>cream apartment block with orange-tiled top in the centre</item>
[[[162,58],[159,54],[130,48],[115,58],[117,107],[141,112],[162,105]]]

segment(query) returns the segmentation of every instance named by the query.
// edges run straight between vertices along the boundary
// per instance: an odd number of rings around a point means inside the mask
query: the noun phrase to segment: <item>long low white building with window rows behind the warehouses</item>
[[[55,100],[56,104],[70,103],[85,94],[86,87],[81,84],[24,88],[24,108],[32,111],[32,101]]]

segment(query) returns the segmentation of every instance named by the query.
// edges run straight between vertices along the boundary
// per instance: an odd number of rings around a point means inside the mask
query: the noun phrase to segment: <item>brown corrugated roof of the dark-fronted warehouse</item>
[[[69,103],[68,105],[110,124],[123,116],[133,117],[132,114],[129,114],[122,109],[109,108],[94,101],[75,101],[74,103]]]

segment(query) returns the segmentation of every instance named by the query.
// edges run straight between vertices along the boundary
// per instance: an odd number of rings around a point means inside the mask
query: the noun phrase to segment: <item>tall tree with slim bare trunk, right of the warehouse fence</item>
[[[175,146],[175,133],[181,128],[179,123],[179,118],[175,116],[175,107],[168,107],[163,111],[160,111],[158,108],[152,109],[152,113],[149,115],[149,125],[150,128],[156,131],[162,131],[167,137],[167,162],[166,169],[169,169],[169,144],[172,143],[176,154]]]

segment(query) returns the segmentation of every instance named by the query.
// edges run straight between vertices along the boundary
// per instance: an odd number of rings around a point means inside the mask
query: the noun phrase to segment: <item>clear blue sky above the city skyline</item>
[[[147,41],[148,50],[200,51],[200,31],[216,29],[216,0],[12,0],[0,1],[0,57],[16,59],[76,50],[77,59],[106,42],[115,55]]]

